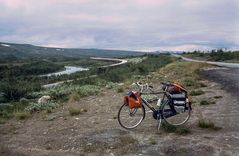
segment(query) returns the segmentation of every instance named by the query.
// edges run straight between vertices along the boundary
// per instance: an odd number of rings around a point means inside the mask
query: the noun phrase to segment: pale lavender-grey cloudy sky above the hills
[[[0,41],[140,51],[239,49],[239,0],[0,0]]]

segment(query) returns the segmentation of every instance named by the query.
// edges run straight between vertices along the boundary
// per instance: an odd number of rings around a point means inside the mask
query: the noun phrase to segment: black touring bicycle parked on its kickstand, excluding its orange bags
[[[118,122],[125,129],[133,129],[139,126],[145,118],[145,106],[153,112],[153,118],[158,121],[158,130],[162,119],[170,125],[179,126],[185,124],[191,115],[191,102],[189,102],[186,90],[180,90],[180,94],[172,94],[169,92],[169,87],[174,83],[162,82],[163,91],[155,92],[153,87],[146,84],[136,83],[139,87],[138,96],[141,98],[141,106],[130,108],[127,102],[120,107],[118,112]],[[177,83],[176,83],[177,85]],[[143,92],[149,90],[150,92]],[[132,91],[128,93],[132,94]],[[143,94],[163,94],[162,100],[159,98],[157,106],[152,106],[146,99],[142,98]]]

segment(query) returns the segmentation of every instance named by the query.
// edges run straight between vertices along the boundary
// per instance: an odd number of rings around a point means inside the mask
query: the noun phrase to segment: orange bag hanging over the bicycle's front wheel
[[[129,106],[129,108],[142,107],[142,99],[138,92],[130,91],[128,95],[124,97],[124,102]]]

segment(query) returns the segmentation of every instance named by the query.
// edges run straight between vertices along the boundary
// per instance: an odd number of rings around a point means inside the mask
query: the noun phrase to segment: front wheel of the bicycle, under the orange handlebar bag
[[[127,104],[123,104],[118,112],[119,124],[125,129],[136,128],[145,117],[145,108],[129,108]]]

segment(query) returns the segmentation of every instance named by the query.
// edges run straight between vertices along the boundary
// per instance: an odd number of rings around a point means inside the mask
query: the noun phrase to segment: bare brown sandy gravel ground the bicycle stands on
[[[98,96],[63,104],[51,114],[36,113],[29,119],[12,119],[0,125],[0,155],[239,155],[239,102],[235,96],[239,83],[235,85],[234,81],[228,80],[230,74],[234,73],[231,70],[208,70],[203,73],[209,80],[203,80],[207,84],[207,87],[202,88],[205,94],[193,97],[193,113],[187,123],[191,134],[181,136],[158,132],[150,112],[138,128],[132,131],[121,128],[117,113],[124,93],[104,90]],[[216,74],[216,78],[210,77]],[[238,82],[238,75],[235,77],[235,82]],[[224,80],[228,81],[221,83]],[[228,92],[223,86],[228,84],[234,86],[235,90]],[[216,99],[215,96],[222,98]],[[213,99],[216,103],[200,106],[199,102],[203,99]],[[84,108],[87,112],[70,116],[69,107]],[[197,123],[202,117],[222,129],[214,131],[199,128]]]

